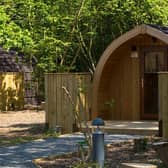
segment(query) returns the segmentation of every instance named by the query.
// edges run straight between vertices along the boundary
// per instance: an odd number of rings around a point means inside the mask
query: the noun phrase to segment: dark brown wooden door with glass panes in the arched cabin
[[[141,50],[141,119],[158,119],[158,72],[168,70],[166,48]]]

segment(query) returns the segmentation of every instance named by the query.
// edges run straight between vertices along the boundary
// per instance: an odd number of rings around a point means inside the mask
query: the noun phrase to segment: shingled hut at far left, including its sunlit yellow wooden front
[[[31,73],[32,67],[24,64],[21,56],[0,47],[0,110],[19,110],[29,103]]]

